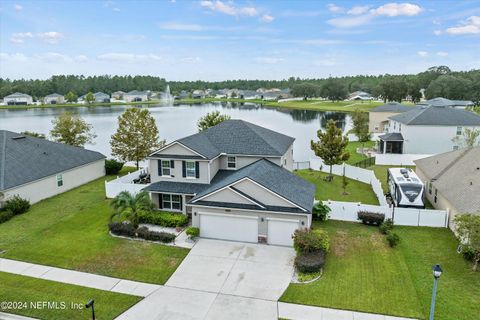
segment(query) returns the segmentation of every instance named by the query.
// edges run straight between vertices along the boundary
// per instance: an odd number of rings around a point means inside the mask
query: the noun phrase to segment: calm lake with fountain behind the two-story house
[[[117,129],[117,117],[129,106],[110,107],[70,107],[1,109],[0,129],[14,132],[34,131],[48,134],[52,119],[65,111],[80,115],[93,126],[97,135],[93,145],[87,149],[110,155],[110,136]],[[337,126],[347,132],[352,127],[349,114],[297,109],[276,109],[253,103],[218,102],[193,105],[148,105],[135,106],[150,110],[155,118],[160,138],[168,142],[197,132],[197,121],[207,112],[220,110],[232,119],[242,119],[271,130],[294,137],[295,161],[306,161],[313,156],[310,140],[316,139],[316,132],[324,128],[329,119],[337,121]]]

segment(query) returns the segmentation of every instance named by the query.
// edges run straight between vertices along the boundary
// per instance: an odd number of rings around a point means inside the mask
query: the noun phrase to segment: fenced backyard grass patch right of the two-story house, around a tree
[[[295,173],[315,184],[317,191],[315,199],[334,201],[354,201],[365,204],[378,204],[378,199],[369,184],[347,178],[347,195],[343,194],[342,177],[334,176],[333,181],[327,182],[327,173],[313,170],[297,170]]]

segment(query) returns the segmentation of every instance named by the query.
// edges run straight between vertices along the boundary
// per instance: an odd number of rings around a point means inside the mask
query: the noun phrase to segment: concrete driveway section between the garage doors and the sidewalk
[[[166,285],[277,301],[294,257],[292,248],[200,239]]]

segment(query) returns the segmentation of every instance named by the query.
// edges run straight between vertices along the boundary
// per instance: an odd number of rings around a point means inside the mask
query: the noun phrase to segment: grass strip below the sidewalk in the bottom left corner
[[[91,309],[86,309],[85,303],[90,299],[95,300],[95,315],[98,319],[114,319],[141,300],[141,297],[4,272],[0,272],[0,284],[1,301],[22,302],[22,307],[24,303],[27,304],[27,308],[0,308],[0,312],[41,319],[89,319]],[[43,301],[57,302],[60,308],[33,308],[30,305]],[[62,309],[62,305],[65,308]],[[75,308],[77,305],[82,309]]]

